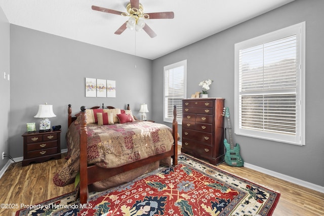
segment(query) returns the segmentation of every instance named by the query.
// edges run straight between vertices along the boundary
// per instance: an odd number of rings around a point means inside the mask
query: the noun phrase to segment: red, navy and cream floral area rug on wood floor
[[[280,194],[215,166],[180,154],[175,167],[160,168],[128,184],[90,195],[75,193],[27,206],[22,215],[271,215]]]

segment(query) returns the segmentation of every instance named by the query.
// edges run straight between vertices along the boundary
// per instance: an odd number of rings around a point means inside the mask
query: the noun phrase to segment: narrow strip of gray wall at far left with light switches
[[[10,25],[2,8],[0,8],[0,169],[7,163],[8,157],[2,159],[2,153],[9,153],[9,113],[10,81],[4,79],[4,72],[10,73]]]

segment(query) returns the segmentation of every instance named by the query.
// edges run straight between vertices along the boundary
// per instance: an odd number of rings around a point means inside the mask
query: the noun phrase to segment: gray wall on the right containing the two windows
[[[234,136],[242,158],[250,164],[324,186],[324,1],[296,0],[245,23],[153,61],[154,116],[163,121],[163,67],[187,59],[187,96],[200,91],[199,81],[213,79],[209,97],[225,98],[234,110],[234,44],[306,21],[306,145]],[[234,125],[231,112],[231,125]],[[181,127],[179,127],[181,131]]]

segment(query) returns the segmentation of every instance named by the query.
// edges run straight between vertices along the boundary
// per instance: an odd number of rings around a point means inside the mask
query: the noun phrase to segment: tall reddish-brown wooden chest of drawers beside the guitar
[[[182,148],[218,164],[224,160],[223,98],[185,99],[182,101]]]

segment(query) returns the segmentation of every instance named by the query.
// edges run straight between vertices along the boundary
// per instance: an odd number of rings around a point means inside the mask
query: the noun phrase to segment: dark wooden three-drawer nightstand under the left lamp
[[[24,133],[24,159],[22,166],[31,162],[44,162],[61,158],[61,131]]]

